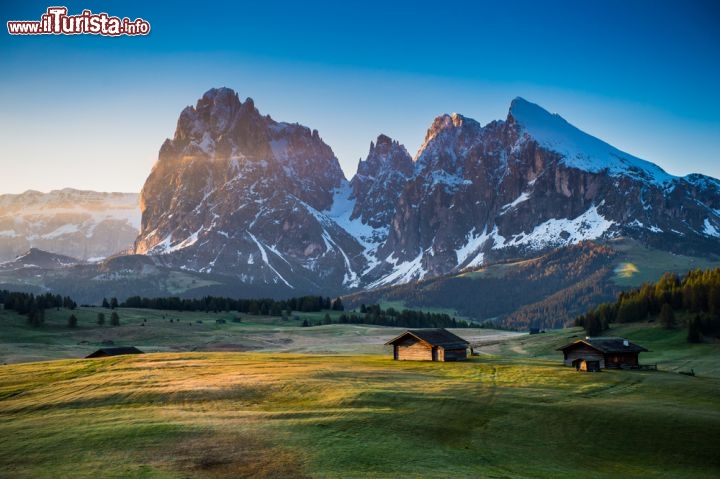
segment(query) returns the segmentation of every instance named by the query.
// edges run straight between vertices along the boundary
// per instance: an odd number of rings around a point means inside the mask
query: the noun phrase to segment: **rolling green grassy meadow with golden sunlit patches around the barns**
[[[610,333],[659,371],[577,373],[555,351],[577,328],[457,331],[480,356],[397,362],[392,328],[122,309],[112,328],[95,310],[72,330],[63,310],[39,329],[0,312],[0,477],[720,475],[720,346],[655,324]],[[57,359],[108,337],[151,354]],[[55,360],[19,362],[43,344]]]

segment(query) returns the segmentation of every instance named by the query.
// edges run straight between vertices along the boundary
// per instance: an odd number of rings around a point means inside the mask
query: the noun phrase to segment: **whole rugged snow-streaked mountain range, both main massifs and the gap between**
[[[124,270],[192,278],[188,295],[378,291],[620,239],[720,252],[720,181],[670,175],[522,98],[484,126],[437,117],[414,157],[381,134],[348,181],[317,130],[211,89],[180,114],[139,205]]]

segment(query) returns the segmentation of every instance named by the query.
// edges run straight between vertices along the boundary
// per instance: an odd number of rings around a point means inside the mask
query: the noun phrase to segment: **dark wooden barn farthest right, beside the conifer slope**
[[[647,349],[624,338],[585,338],[558,348],[566,366],[580,371],[605,368],[637,368],[638,356]],[[592,369],[590,369],[592,368]]]

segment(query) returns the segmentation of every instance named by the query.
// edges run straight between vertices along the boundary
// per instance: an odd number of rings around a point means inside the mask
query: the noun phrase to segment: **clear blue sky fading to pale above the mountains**
[[[50,6],[145,36],[10,35]],[[720,2],[2,2],[0,194],[139,192],[213,87],[317,129],[352,177],[386,134],[505,119],[520,96],[674,175],[720,178]]]

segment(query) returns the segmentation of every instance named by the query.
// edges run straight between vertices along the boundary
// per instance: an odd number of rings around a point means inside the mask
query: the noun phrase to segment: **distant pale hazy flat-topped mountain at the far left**
[[[0,262],[31,248],[80,260],[129,250],[140,227],[136,193],[70,188],[0,195]]]

